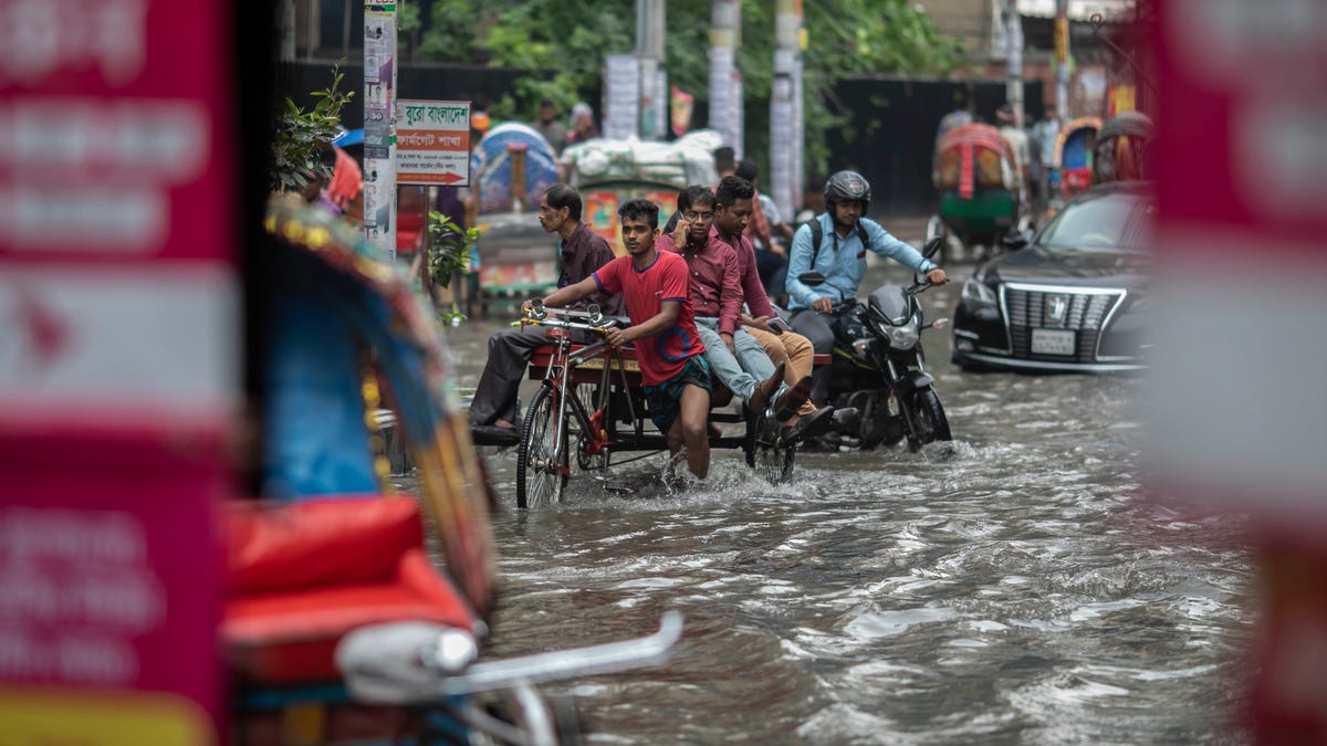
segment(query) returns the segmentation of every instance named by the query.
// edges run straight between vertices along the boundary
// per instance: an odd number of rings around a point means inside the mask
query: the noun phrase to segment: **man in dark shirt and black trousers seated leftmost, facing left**
[[[613,250],[598,234],[581,223],[580,194],[567,185],[553,185],[539,203],[539,224],[561,239],[563,272],[557,287],[575,285],[613,259]],[[608,316],[622,315],[618,296],[593,293]],[[584,304],[583,304],[584,305]],[[592,338],[576,341],[589,342]],[[529,357],[544,344],[541,327],[503,329],[488,337],[488,361],[470,402],[470,429],[475,442],[515,445],[519,441],[516,393]]]

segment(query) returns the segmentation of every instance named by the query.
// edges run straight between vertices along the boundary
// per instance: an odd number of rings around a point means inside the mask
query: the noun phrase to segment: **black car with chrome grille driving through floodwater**
[[[1144,366],[1149,182],[1093,187],[963,284],[954,356],[966,369],[1105,373]]]

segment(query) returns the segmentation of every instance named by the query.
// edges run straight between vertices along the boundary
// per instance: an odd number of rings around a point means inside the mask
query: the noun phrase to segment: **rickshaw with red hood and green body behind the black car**
[[[926,240],[949,236],[962,247],[999,246],[1001,238],[1027,223],[1014,150],[999,130],[973,123],[945,133],[936,146],[932,174],[940,214],[926,224]],[[943,263],[954,248],[945,242]]]

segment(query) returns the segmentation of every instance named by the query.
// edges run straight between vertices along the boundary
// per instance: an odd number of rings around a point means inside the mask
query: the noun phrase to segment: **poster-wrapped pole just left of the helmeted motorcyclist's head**
[[[779,214],[792,222],[792,165],[796,147],[794,74],[798,54],[796,0],[775,0],[774,81],[770,92],[770,178],[764,187],[779,206]]]

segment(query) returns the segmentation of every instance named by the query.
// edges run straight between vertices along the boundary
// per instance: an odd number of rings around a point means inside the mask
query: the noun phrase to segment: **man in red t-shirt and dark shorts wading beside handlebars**
[[[617,208],[626,256],[600,267],[589,277],[559,289],[544,305],[560,308],[594,293],[622,293],[632,325],[609,329],[612,346],[636,345],[645,381],[650,419],[667,435],[669,451],[686,447],[686,465],[703,478],[710,471],[710,368],[705,342],[695,329],[686,260],[660,252],[660,210],[633,199]]]

